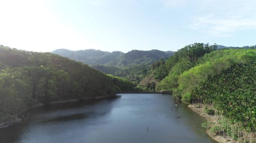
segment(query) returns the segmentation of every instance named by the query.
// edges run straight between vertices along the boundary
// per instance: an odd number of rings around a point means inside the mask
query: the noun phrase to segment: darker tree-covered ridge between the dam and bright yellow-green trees
[[[167,60],[161,59],[153,63],[147,77],[141,81],[140,86],[145,87],[147,81],[150,81],[158,83],[155,90],[173,91],[173,88],[177,87],[178,76],[183,71],[195,66],[198,58],[214,50],[217,50],[217,45],[195,43],[185,46]]]

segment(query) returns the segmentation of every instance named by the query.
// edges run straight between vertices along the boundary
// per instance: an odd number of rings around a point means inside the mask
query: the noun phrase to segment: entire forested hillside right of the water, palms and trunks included
[[[216,123],[203,126],[233,140],[252,142],[256,133],[255,46],[217,48],[195,43],[155,62],[139,86],[173,92],[175,101],[199,103]],[[154,83],[152,83],[154,81]]]

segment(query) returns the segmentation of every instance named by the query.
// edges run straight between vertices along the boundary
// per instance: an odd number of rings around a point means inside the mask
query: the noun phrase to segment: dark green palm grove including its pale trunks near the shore
[[[233,140],[241,139],[243,131],[252,141],[256,132],[256,63],[253,61],[233,63],[219,74],[208,76],[192,90],[192,99],[214,107],[219,124],[211,125],[211,131],[220,134],[221,130],[222,136],[226,133]]]

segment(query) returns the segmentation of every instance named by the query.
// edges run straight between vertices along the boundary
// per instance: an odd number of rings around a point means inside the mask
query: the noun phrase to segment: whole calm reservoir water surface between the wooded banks
[[[216,143],[200,127],[204,118],[172,109],[171,96],[120,95],[34,108],[28,124],[0,130],[0,143]]]

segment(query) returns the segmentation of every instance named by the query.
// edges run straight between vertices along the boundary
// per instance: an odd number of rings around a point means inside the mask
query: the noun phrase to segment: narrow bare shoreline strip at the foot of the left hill
[[[37,104],[33,105],[32,107],[28,108],[27,110],[23,111],[22,113],[24,113],[24,112],[26,112],[30,109],[33,109],[33,108],[36,108],[36,107],[41,107],[41,106],[44,106],[44,105],[75,102],[75,101],[86,101],[86,100],[93,100],[93,99],[104,99],[104,98],[111,98],[111,97],[118,98],[118,97],[120,97],[120,95],[97,96],[97,97],[85,98],[85,99],[69,99],[69,100],[63,100],[63,101],[53,101],[53,102],[49,102],[49,103],[37,103]],[[22,113],[19,114],[19,115],[22,115]],[[21,123],[23,120],[21,118],[18,118],[19,115],[16,115],[16,117],[14,119],[4,121],[3,123],[0,123],[0,130],[1,130],[1,128],[7,128],[10,125]]]

